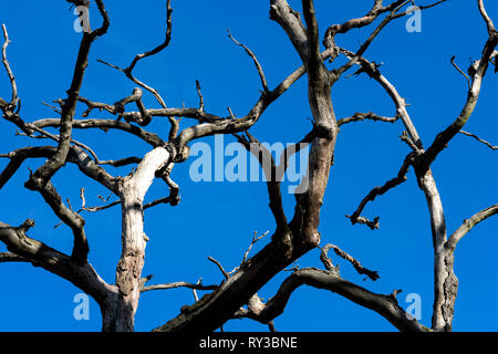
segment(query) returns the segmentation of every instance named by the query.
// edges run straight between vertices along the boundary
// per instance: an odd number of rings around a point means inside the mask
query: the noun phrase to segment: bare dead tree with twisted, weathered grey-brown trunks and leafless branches
[[[86,9],[91,6],[91,1],[87,0],[66,0],[66,2]],[[458,288],[454,271],[455,249],[458,241],[473,227],[498,214],[498,205],[488,207],[465,220],[464,225],[448,237],[443,204],[430,166],[448,143],[459,133],[474,137],[496,149],[492,144],[463,131],[463,128],[476,107],[483,79],[488,72],[489,64],[494,63],[498,67],[498,52],[496,51],[498,31],[487,14],[483,0],[477,0],[477,7],[487,27],[487,41],[480,58],[471,63],[468,74],[461,71],[452,60],[452,64],[468,82],[467,100],[458,117],[440,132],[433,143],[425,147],[411,119],[405,100],[394,84],[381,72],[381,65],[366,58],[366,52],[378,33],[391,22],[408,15],[412,11],[408,8],[413,3],[411,0],[385,2],[374,0],[366,14],[344,23],[330,25],[324,38],[320,39],[312,0],[302,0],[302,15],[293,10],[287,0],[270,0],[270,18],[287,33],[302,61],[302,65],[289,73],[278,85],[271,86],[256,54],[229,33],[230,39],[240,45],[247,52],[249,59],[253,61],[261,81],[259,98],[249,112],[241,117],[236,117],[231,110],[228,116],[207,112],[199,82],[197,82],[199,97],[197,107],[169,107],[157,90],[135,76],[134,69],[136,65],[143,60],[163,52],[172,40],[174,17],[170,0],[166,1],[167,22],[163,43],[151,51],[137,54],[126,67],[101,60],[101,63],[117,70],[136,85],[129,96],[114,104],[96,102],[80,95],[92,44],[106,34],[111,23],[111,17],[105,10],[104,0],[95,0],[102,24],[83,33],[72,83],[66,92],[68,95],[64,100],[55,101],[55,106],[52,106],[58,114],[56,118],[33,121],[23,116],[21,111],[22,97],[18,96],[13,70],[7,55],[10,43],[9,34],[3,25],[2,63],[12,88],[10,100],[0,98],[3,118],[17,126],[20,132],[19,135],[50,139],[54,144],[27,146],[2,155],[9,163],[0,175],[0,188],[9,181],[27,159],[45,158],[45,162],[30,174],[24,186],[39,192],[61,222],[71,229],[74,244],[72,253],[64,254],[38,241],[32,236],[31,229],[34,227],[34,221],[31,219],[25,220],[20,226],[0,223],[0,240],[9,250],[9,252],[0,253],[0,262],[32,263],[34,267],[43,268],[70,281],[97,302],[103,317],[102,330],[110,332],[134,330],[134,319],[143,292],[179,287],[191,289],[196,302],[193,305],[183,306],[177,317],[167,321],[154,331],[215,331],[231,319],[242,317],[268,324],[269,329],[274,331],[272,321],[284,311],[292,292],[303,284],[329,290],[361,306],[371,309],[400,331],[450,331]],[[447,0],[434,1],[419,6],[418,9],[426,11],[445,2],[450,3]],[[336,44],[338,35],[345,34],[354,29],[366,28],[375,22],[378,23],[360,48],[351,50]],[[346,60],[344,64],[340,65],[335,64],[340,62],[336,59]],[[385,91],[394,104],[395,114],[393,117],[384,117],[374,113],[356,113],[342,119],[335,117],[331,90],[352,69],[356,69],[355,74],[369,75]],[[302,76],[308,80],[308,101],[312,113],[313,127],[311,132],[303,133],[302,140],[297,143],[293,148],[284,152],[280,159],[280,166],[276,166],[271,153],[249,133],[249,129],[258,123],[267,108]],[[146,107],[143,102],[144,94],[151,94],[155,97],[159,107]],[[81,117],[76,117],[76,105],[79,104],[87,107]],[[133,111],[133,105],[136,106],[135,111]],[[106,111],[116,118],[91,118],[90,116],[95,111]],[[156,117],[168,118],[170,129],[167,136],[147,131],[149,123]],[[195,124],[181,129],[179,118],[190,119]],[[430,215],[435,262],[435,300],[430,327],[417,322],[398,305],[396,301],[398,291],[391,294],[377,294],[343,279],[340,275],[339,268],[332,263],[328,256],[330,249],[334,250],[338,257],[350,261],[360,274],[364,274],[373,281],[377,280],[378,274],[376,271],[364,268],[355,258],[334,244],[326,244],[321,248],[320,259],[324,266],[323,270],[293,268],[278,292],[267,302],[263,302],[257,294],[274,275],[284,271],[300,257],[310,250],[320,248],[320,211],[329,183],[330,169],[334,160],[334,148],[340,126],[364,119],[387,123],[401,121],[405,129],[402,140],[409,146],[411,153],[404,159],[397,176],[384,185],[373,188],[360,202],[357,209],[347,217],[353,225],[362,223],[371,229],[377,229],[380,227],[378,218],[370,220],[362,216],[364,207],[380,195],[403,184],[407,179],[407,173],[413,168]],[[56,128],[58,134],[50,133],[51,131],[48,128]],[[151,150],[143,157],[132,156],[117,160],[101,160],[90,146],[75,139],[73,132],[77,129],[118,129],[128,133],[131,138],[138,138],[147,143]],[[267,183],[269,211],[271,211],[276,221],[271,241],[253,257],[249,257],[252,246],[262,238],[262,236],[255,235],[240,266],[229,272],[224,269],[219,261],[210,258],[222,272],[224,281],[220,284],[204,285],[199,281],[197,283],[176,282],[146,285],[151,278],[142,275],[145,248],[148,240],[144,233],[143,212],[145,209],[160,204],[168,204],[174,207],[179,202],[179,186],[172,178],[175,164],[188,160],[189,144],[215,134],[235,135],[240,144],[257,156],[262,166],[270,166],[269,170],[268,168],[266,170],[270,174],[269,176],[272,176]],[[300,194],[295,194],[294,215],[289,219],[282,205],[281,184],[278,177],[286,170],[289,156],[297,153],[303,145],[309,145],[308,188]],[[252,148],[255,146],[256,149]],[[52,181],[52,177],[68,163],[77,166],[83,175],[108,189],[118,200],[101,207],[87,207],[82,188],[82,208],[77,211],[74,210],[69,202],[64,202],[64,198],[58,192]],[[107,166],[110,168],[134,167],[126,176],[113,176],[104,168]],[[169,195],[162,199],[144,202],[147,190],[156,178],[166,184]],[[122,253],[116,267],[115,283],[107,283],[89,263],[90,247],[82,214],[83,211],[97,212],[114,206],[121,207]],[[209,292],[199,299],[197,291]]]

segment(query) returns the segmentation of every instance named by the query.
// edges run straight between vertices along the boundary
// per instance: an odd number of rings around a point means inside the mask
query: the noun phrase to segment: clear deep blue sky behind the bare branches
[[[163,40],[164,0],[111,1],[108,33],[92,48],[90,66],[82,95],[94,101],[114,103],[131,94],[134,86],[121,73],[96,62],[125,66],[136,53],[152,49]],[[417,1],[417,3],[427,1]],[[495,22],[498,3],[486,1]],[[371,0],[354,2],[317,0],[320,29],[364,14]],[[295,9],[300,1],[291,1]],[[227,37],[232,35],[251,48],[261,62],[269,84],[274,87],[299,66],[299,56],[278,24],[269,20],[268,1],[173,1],[174,30],[169,48],[154,58],[142,61],[135,74],[159,90],[168,106],[197,106],[195,81],[203,86],[206,110],[227,115],[230,106],[236,115],[245,115],[259,96],[259,77],[252,62]],[[98,21],[92,13],[93,21]],[[65,97],[81,34],[73,31],[74,14],[65,1],[8,1],[1,10],[0,22],[6,23],[12,43],[8,55],[15,73],[22,116],[34,121],[56,115],[41,104]],[[339,38],[351,50],[370,34],[373,28],[351,31]],[[467,67],[469,58],[477,59],[487,32],[476,1],[453,0],[423,13],[422,33],[405,31],[405,21],[391,23],[365,54],[384,62],[383,73],[411,104],[409,113],[425,145],[458,115],[466,98],[466,82],[450,65]],[[474,116],[466,129],[498,144],[496,94],[498,76],[489,71]],[[310,131],[305,79],[301,79],[274,103],[251,132],[269,143],[291,143]],[[395,110],[387,95],[365,76],[341,80],[333,88],[338,117],[355,112],[375,112],[393,116]],[[10,96],[8,77],[0,74],[0,96]],[[157,107],[147,97],[148,107]],[[80,107],[81,114],[83,107]],[[107,117],[94,113],[93,117]],[[188,122],[185,119],[183,126]],[[1,122],[0,152],[46,142],[15,137],[15,128]],[[167,119],[158,118],[151,127],[166,137]],[[377,282],[363,281],[345,261],[342,275],[367,289],[391,293],[402,289],[400,304],[405,296],[422,296],[422,322],[430,324],[433,303],[433,253],[425,199],[417,188],[413,171],[408,180],[380,197],[365,208],[367,217],[381,217],[381,229],[371,231],[352,227],[344,217],[352,214],[371,188],[384,184],[397,174],[408,147],[400,142],[400,123],[357,123],[344,126],[340,133],[335,165],[321,214],[322,244],[332,242],[359,259],[365,267],[377,270]],[[141,156],[149,147],[121,133],[98,131],[75,132],[75,137],[94,147],[101,159],[129,155]],[[231,137],[226,137],[230,142]],[[212,138],[205,142],[212,144]],[[457,136],[433,165],[443,198],[448,232],[475,212],[494,205],[498,199],[498,153],[465,136]],[[1,166],[7,164],[0,162]],[[1,221],[18,226],[33,218],[33,238],[64,252],[71,251],[70,230],[59,223],[42,202],[40,195],[22,187],[28,167],[35,169],[42,160],[23,165],[15,178],[0,191]],[[145,214],[146,233],[151,238],[146,249],[143,274],[155,274],[153,283],[173,281],[205,284],[219,283],[221,274],[207,260],[218,259],[226,269],[238,266],[255,231],[274,228],[267,206],[267,189],[262,183],[199,183],[190,180],[190,160],[177,165],[173,177],[180,185],[181,202],[172,208],[159,206]],[[126,168],[110,170],[127,174]],[[80,188],[85,187],[87,205],[101,205],[97,195],[107,191],[82,177],[75,167],[60,171],[53,183],[80,206]],[[155,184],[147,200],[166,196],[166,187]],[[114,199],[113,199],[114,200]],[[293,208],[293,197],[284,196],[286,210]],[[120,257],[120,209],[87,215],[86,233],[90,240],[90,261],[110,283],[114,282]],[[456,253],[459,278],[454,330],[498,330],[494,299],[498,292],[496,249],[498,219],[479,225],[460,243]],[[258,251],[268,240],[261,240]],[[0,246],[0,251],[4,247]],[[321,267],[319,250],[299,260],[300,267]],[[28,264],[0,264],[0,331],[100,331],[101,316],[96,303],[91,303],[90,321],[73,319],[73,296],[80,291],[69,282]],[[274,278],[259,294],[269,299],[288,273]],[[179,313],[184,304],[193,303],[189,290],[167,290],[144,293],[136,316],[136,330],[148,331]],[[276,321],[278,331],[392,331],[383,317],[330,292],[301,288],[295,291],[287,311]],[[226,331],[266,331],[267,327],[246,321],[230,321]]]

